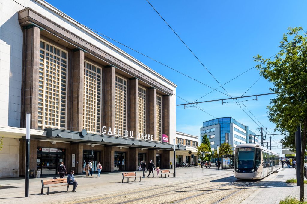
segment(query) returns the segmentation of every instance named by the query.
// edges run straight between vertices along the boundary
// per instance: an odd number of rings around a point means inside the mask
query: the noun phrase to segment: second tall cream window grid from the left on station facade
[[[100,133],[101,68],[84,61],[83,127],[88,132]]]

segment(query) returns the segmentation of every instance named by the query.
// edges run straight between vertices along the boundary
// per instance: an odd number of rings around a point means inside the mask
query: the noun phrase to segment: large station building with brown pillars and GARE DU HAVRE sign
[[[142,159],[169,168],[176,84],[47,2],[19,3],[0,12],[0,178],[25,175],[26,113],[41,174],[61,161],[76,174],[89,160],[106,172]]]

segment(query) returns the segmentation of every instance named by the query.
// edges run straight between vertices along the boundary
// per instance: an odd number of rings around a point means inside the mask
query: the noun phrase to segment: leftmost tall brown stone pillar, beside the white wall
[[[37,129],[38,78],[41,30],[35,26],[23,30],[21,127],[25,128],[26,113],[31,113],[31,129]]]

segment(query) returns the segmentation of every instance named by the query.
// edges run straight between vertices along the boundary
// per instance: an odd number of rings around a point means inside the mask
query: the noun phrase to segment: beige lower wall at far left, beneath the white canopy
[[[18,177],[19,174],[19,139],[2,138],[0,151],[0,178]]]

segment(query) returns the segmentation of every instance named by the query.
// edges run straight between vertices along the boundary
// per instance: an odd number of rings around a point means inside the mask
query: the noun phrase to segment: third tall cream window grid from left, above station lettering
[[[115,128],[121,130],[120,135],[127,128],[127,80],[115,76]]]

